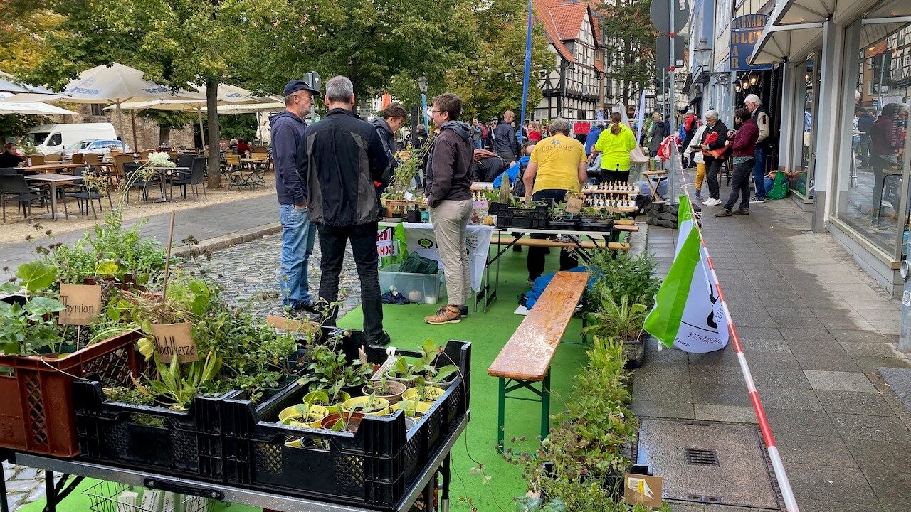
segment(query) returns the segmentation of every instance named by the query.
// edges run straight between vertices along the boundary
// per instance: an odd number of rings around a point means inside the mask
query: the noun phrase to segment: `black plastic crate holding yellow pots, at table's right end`
[[[347,342],[347,340],[346,340]],[[349,359],[356,346],[345,343]],[[353,350],[352,350],[353,349]],[[468,414],[471,344],[449,341],[439,364],[455,362],[455,378],[417,425],[405,430],[404,414],[365,416],[355,433],[278,425],[278,413],[307,391],[295,386],[260,406],[224,401],[225,473],[231,486],[307,497],[343,505],[392,510]],[[384,347],[368,347],[380,364]],[[406,356],[419,353],[399,351]],[[307,447],[285,443],[302,440]]]

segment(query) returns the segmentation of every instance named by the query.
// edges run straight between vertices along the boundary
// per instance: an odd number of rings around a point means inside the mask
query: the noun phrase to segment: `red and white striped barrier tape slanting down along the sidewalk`
[[[680,159],[678,159],[678,161],[680,161]],[[683,177],[681,179],[681,182],[683,183],[683,193],[689,196],[690,192],[687,189],[686,177],[683,175],[682,171],[681,177]],[[670,190],[670,194],[670,197],[676,197],[672,195],[674,194],[674,190]],[[705,239],[701,236],[701,226],[696,220],[697,219],[695,218],[694,214],[693,227],[697,230],[700,230],[699,238],[701,241],[701,251],[705,251],[705,260],[709,262],[709,271],[711,271],[711,281],[715,283],[715,289],[718,290],[718,298],[722,302],[724,316],[728,319],[728,333],[730,334],[731,341],[734,345],[734,350],[737,351],[737,362],[740,364],[741,373],[743,374],[743,381],[746,383],[746,389],[750,394],[752,409],[756,414],[756,420],[759,422],[759,430],[763,435],[763,441],[765,442],[766,449],[769,453],[769,460],[772,461],[772,468],[775,472],[775,478],[778,479],[778,487],[782,491],[782,497],[784,498],[784,507],[786,507],[787,512],[800,512],[800,507],[797,506],[797,499],[794,497],[793,489],[791,488],[791,481],[788,479],[788,474],[784,470],[782,456],[778,453],[778,446],[775,445],[775,438],[772,435],[772,426],[769,425],[769,418],[767,418],[765,415],[763,401],[759,397],[759,392],[756,390],[756,384],[752,382],[750,365],[746,364],[746,355],[743,353],[743,346],[740,343],[740,336],[737,335],[737,328],[734,327],[734,323],[731,319],[731,310],[728,309],[728,303],[724,300],[722,283],[718,281],[718,273],[715,272],[715,266],[711,262],[709,248],[705,245]]]

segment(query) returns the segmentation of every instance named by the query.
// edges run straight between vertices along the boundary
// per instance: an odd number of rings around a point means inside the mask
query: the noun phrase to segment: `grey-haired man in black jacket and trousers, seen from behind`
[[[353,113],[354,88],[347,77],[326,82],[325,118],[307,130],[304,170],[310,187],[310,220],[319,225],[320,299],[338,301],[344,249],[351,241],[361,280],[363,331],[367,343],[389,343],[377,271],[376,229],[381,183],[389,156],[373,125]],[[328,325],[335,325],[333,307]]]

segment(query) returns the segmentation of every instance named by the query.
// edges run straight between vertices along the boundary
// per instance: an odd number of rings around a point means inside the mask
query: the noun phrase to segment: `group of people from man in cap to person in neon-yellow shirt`
[[[395,133],[407,123],[407,114],[393,103],[368,122],[354,114],[351,80],[333,77],[325,89],[322,99],[328,113],[312,126],[305,119],[321,91],[304,80],[288,83],[285,110],[270,118],[282,229],[282,301],[294,313],[319,316],[334,325],[333,305],[350,242],[361,282],[364,333],[369,343],[386,344],[390,340],[383,328],[375,241],[382,216],[380,196],[399,165]],[[597,137],[583,145],[572,137],[573,127],[566,119],[517,127],[514,113],[507,110],[491,126],[476,119],[466,123],[460,120],[462,112],[460,97],[434,97],[429,112],[434,133],[419,129],[415,134],[419,144],[428,144],[420,180],[422,200],[434,226],[448,294],[445,305],[425,317],[429,324],[457,323],[467,315],[471,280],[466,233],[472,181],[507,179],[519,197],[561,201],[587,182],[628,179],[630,151],[637,146],[620,113],[612,115],[603,129],[593,130]],[[319,291],[312,295],[307,273],[317,240],[321,275]],[[544,272],[546,251],[528,251],[529,282]],[[570,253],[561,253],[561,270],[577,265]]]

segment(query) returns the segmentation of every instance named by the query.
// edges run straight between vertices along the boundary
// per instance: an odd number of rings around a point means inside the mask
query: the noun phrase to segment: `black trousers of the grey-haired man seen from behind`
[[[319,225],[320,251],[320,298],[333,303],[339,298],[339,276],[342,274],[344,249],[351,241],[357,276],[361,280],[361,305],[363,307],[363,331],[368,342],[383,337],[383,300],[380,292],[380,274],[377,269],[376,222],[359,226]],[[327,325],[335,325],[338,308],[333,308]]]

